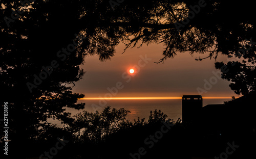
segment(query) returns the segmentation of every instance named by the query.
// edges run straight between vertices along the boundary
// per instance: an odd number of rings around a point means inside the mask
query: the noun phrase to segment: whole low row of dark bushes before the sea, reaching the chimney
[[[129,130],[133,127],[146,127],[147,125],[159,125],[163,121],[167,121],[167,115],[162,113],[161,110],[150,112],[148,121],[145,118],[134,120],[131,122],[126,119],[126,116],[131,113],[123,108],[115,109],[110,106],[105,107],[102,112],[88,112],[83,111],[75,115],[74,122],[70,125],[70,131],[73,132],[74,138],[77,142],[100,142],[104,141],[106,137],[114,135],[120,130]],[[181,122],[178,119],[168,119],[173,124],[179,124]]]

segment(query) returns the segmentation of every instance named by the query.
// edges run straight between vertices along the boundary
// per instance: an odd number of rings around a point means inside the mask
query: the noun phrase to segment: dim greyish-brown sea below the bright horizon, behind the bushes
[[[223,104],[224,101],[231,100],[231,98],[222,98],[222,99],[203,99],[203,107],[207,104]],[[95,112],[98,110],[101,112],[103,110],[102,107],[93,107],[93,105],[99,105],[99,100],[78,100],[78,103],[84,102],[86,103],[86,106],[83,110],[75,110],[73,108],[66,108],[65,112],[70,112],[71,116],[73,117],[77,113],[80,113],[82,111],[88,111],[88,112]],[[174,119],[175,121],[178,118],[182,119],[182,105],[181,105],[181,99],[112,99],[107,101],[105,104],[106,106],[110,106],[111,108],[124,108],[125,110],[129,110],[131,113],[129,113],[126,116],[127,120],[134,121],[138,118],[142,119],[145,118],[145,120],[148,120],[148,117],[150,116],[150,111],[159,111],[163,112],[167,115],[167,119]],[[58,127],[62,127],[63,124],[61,124],[58,120],[52,120],[50,119],[49,122],[52,124],[56,124]]]

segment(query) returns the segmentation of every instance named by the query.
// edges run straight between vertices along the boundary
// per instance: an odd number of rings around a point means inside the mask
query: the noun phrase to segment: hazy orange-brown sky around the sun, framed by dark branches
[[[81,66],[86,71],[83,79],[76,83],[73,91],[85,98],[116,97],[182,97],[202,95],[207,97],[236,96],[229,88],[230,82],[220,78],[215,69],[215,59],[196,61],[207,54],[177,52],[173,59],[156,64],[163,57],[162,44],[128,48],[122,54],[124,44],[116,47],[111,60],[100,62],[97,56],[86,57]],[[219,55],[217,61],[227,62]],[[133,74],[129,73],[134,69]]]

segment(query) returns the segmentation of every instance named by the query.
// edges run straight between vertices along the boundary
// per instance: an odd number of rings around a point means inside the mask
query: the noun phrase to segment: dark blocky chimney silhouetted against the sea
[[[201,95],[182,96],[182,122],[196,121],[203,108],[203,98]]]

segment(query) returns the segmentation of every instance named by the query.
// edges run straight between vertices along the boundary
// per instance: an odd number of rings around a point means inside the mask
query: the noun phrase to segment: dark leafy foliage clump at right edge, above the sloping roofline
[[[246,95],[256,91],[255,44],[251,39],[245,40],[234,55],[229,55],[230,58],[236,59],[227,64],[215,64],[215,67],[221,70],[222,78],[231,82],[229,86],[236,94]]]

